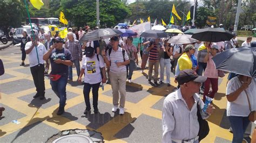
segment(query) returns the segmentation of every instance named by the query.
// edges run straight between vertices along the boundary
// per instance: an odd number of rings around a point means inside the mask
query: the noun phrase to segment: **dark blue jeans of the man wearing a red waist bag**
[[[59,107],[64,108],[66,104],[66,84],[68,83],[68,76],[63,75],[58,81],[50,81],[51,89],[59,97]]]

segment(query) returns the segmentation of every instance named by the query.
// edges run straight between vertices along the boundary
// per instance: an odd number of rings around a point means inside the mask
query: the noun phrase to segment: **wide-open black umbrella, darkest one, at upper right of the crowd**
[[[220,41],[229,41],[234,35],[231,32],[225,31],[224,28],[203,28],[197,29],[192,38],[199,41],[208,41],[208,42],[220,42]]]

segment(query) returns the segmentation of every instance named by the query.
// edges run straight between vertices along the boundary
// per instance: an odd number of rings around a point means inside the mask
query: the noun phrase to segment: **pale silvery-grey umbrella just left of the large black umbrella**
[[[167,42],[171,44],[191,44],[196,41],[197,41],[196,39],[191,38],[191,35],[179,34],[179,35],[173,36]]]

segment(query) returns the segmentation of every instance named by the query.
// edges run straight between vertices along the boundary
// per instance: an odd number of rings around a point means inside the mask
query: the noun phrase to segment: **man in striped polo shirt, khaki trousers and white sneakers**
[[[108,49],[106,55],[103,54],[107,67],[110,67],[110,81],[113,94],[112,112],[116,112],[119,106],[119,115],[124,115],[124,105],[126,96],[126,65],[130,63],[125,49],[118,47],[119,38],[114,36],[111,39],[112,48]],[[120,104],[119,101],[120,92]]]

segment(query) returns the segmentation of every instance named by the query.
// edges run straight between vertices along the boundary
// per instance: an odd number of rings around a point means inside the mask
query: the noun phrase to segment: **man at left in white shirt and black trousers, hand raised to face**
[[[25,52],[29,55],[29,67],[36,86],[36,95],[33,98],[40,97],[44,99],[45,85],[44,85],[44,60],[43,55],[46,53],[45,46],[39,42],[38,34],[31,35],[30,42],[25,45]]]

